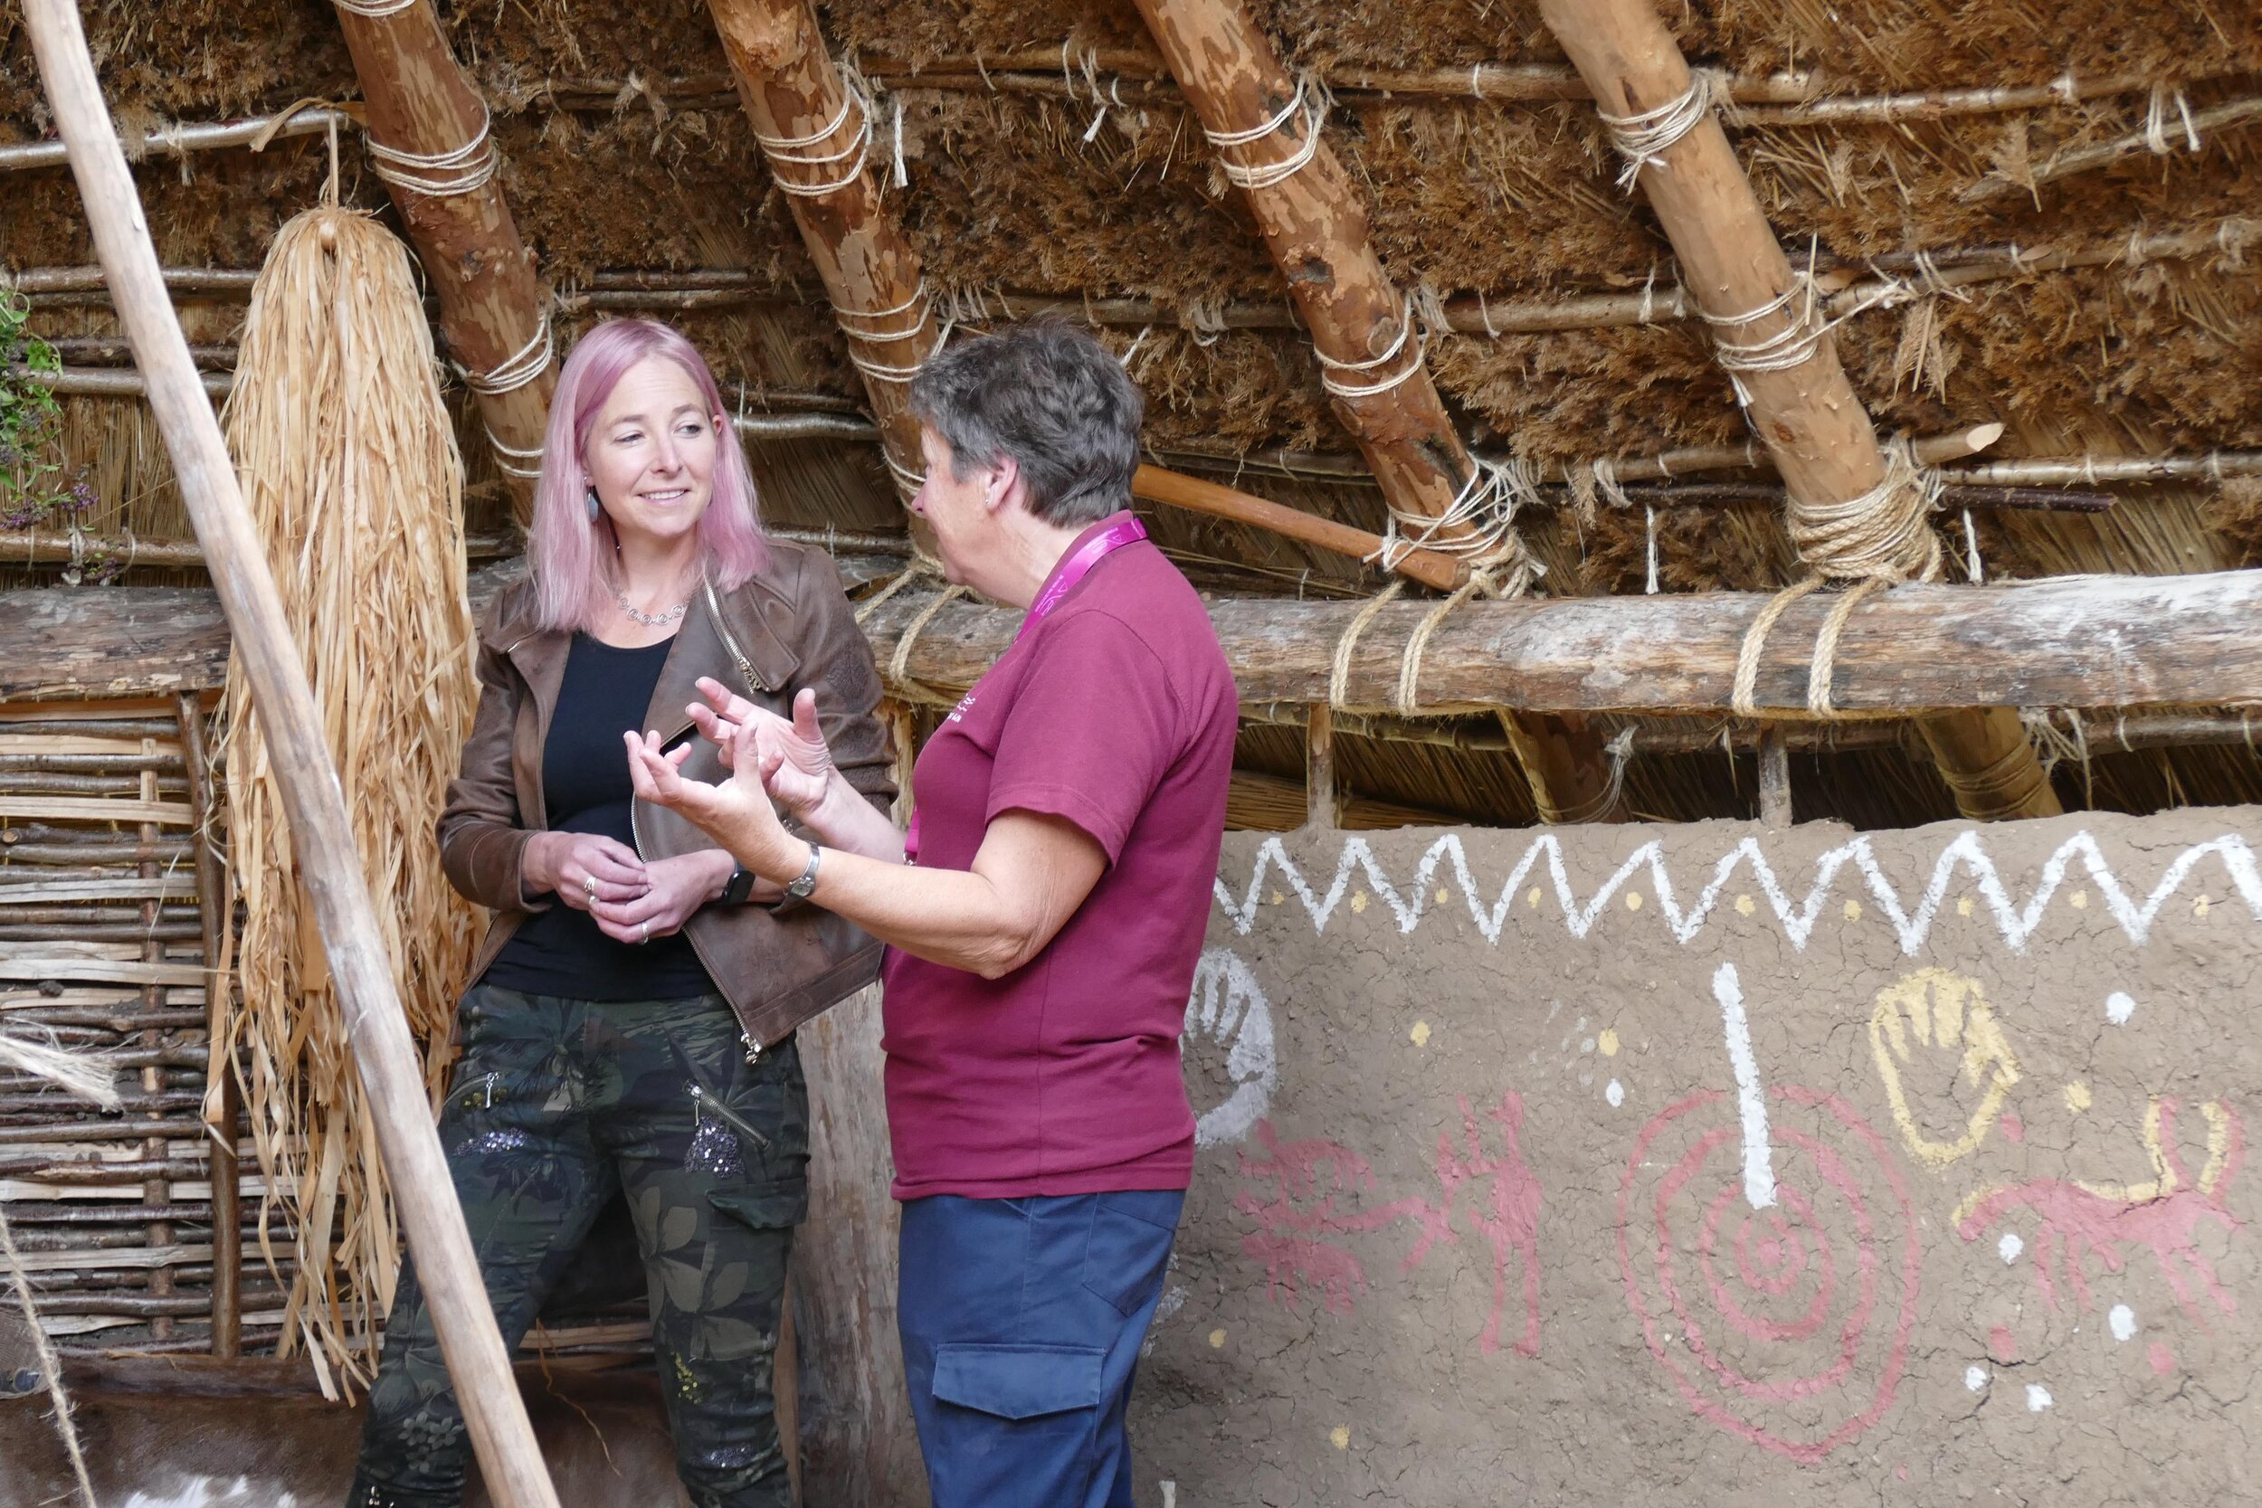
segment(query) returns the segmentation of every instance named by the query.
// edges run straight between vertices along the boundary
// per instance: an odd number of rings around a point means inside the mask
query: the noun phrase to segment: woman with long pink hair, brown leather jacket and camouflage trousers
[[[869,983],[880,945],[636,800],[622,735],[692,735],[701,681],[776,712],[823,687],[835,760],[884,809],[880,676],[832,561],[765,538],[715,375],[667,326],[608,321],[566,359],[527,558],[480,626],[480,714],[439,821],[448,879],[493,911],[441,1144],[509,1345],[627,1198],[690,1501],[783,1508],[769,1377],[808,1207],[794,1029]],[[351,1503],[457,1508],[468,1461],[405,1268]]]

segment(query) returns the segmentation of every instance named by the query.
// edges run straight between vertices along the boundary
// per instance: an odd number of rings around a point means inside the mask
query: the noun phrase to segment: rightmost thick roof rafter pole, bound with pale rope
[[[1877,443],[1810,289],[1658,9],[1649,0],[1540,0],[1540,16],[1595,93],[1629,176],[1640,174],[1681,258],[1681,283],[1782,473],[1801,556],[1823,577],[1862,583],[1936,574],[1939,543],[1916,477]],[[1828,708],[1832,638],[1825,626],[1810,708]],[[2063,809],[2015,714],[1943,712],[1918,728],[1966,816]]]

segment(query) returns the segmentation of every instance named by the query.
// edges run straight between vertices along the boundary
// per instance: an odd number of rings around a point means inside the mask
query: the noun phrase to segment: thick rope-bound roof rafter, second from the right
[[[1495,534],[1520,552],[1509,522],[1516,493],[1479,475],[1445,414],[1414,305],[1382,271],[1366,203],[1328,147],[1323,99],[1289,77],[1240,0],[1138,0],[1138,9],[1255,215],[1312,332],[1335,414],[1366,454],[1398,529],[1441,547]],[[1470,509],[1486,486],[1497,506]],[[1439,522],[1457,515],[1468,520]],[[1545,818],[1620,816],[1599,733],[1552,717],[1513,721],[1511,746]]]

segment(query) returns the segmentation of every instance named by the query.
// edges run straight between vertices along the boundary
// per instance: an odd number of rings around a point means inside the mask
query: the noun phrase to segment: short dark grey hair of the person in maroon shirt
[[[909,407],[959,477],[1013,457],[1029,513],[1047,525],[1081,529],[1131,506],[1147,402],[1083,330],[1036,321],[946,346],[912,380]]]

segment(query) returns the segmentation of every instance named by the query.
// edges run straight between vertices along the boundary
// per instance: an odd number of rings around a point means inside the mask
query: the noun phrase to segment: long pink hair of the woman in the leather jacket
[[[649,319],[608,319],[575,341],[550,400],[543,436],[543,475],[534,484],[534,529],[527,556],[534,599],[547,631],[595,631],[613,606],[613,520],[588,515],[588,468],[581,463],[597,409],[638,362],[667,357],[699,389],[708,414],[726,414],[722,389],[706,357],[683,335]],[[715,497],[699,515],[701,570],[731,590],[769,563],[769,543],[756,513],[753,473],[737,427],[717,430]]]

